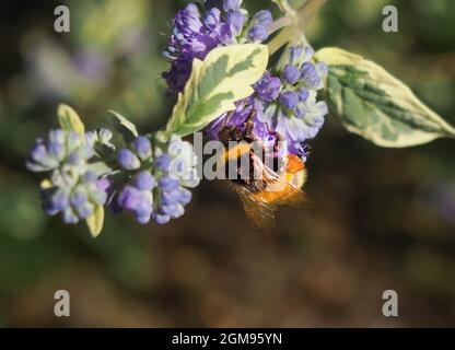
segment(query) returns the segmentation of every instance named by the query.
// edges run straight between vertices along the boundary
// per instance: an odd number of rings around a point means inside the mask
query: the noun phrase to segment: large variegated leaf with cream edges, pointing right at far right
[[[376,63],[338,48],[316,52],[329,66],[330,112],[351,132],[382,147],[423,144],[455,137],[455,129]]]

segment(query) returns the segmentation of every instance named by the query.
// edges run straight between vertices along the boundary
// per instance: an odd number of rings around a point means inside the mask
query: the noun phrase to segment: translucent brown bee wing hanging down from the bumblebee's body
[[[241,198],[246,215],[253,225],[261,232],[270,233],[275,228],[277,206],[254,196],[247,188],[233,184],[234,190]]]

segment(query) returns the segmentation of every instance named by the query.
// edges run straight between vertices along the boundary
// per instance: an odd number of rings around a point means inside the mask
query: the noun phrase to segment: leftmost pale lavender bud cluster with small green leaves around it
[[[42,207],[48,215],[61,212],[66,223],[77,223],[92,215],[95,206],[106,202],[104,180],[88,168],[95,142],[100,142],[97,135],[52,130],[47,140],[38,139],[31,151],[27,168],[50,174],[40,190]],[[108,132],[101,135],[108,142]]]

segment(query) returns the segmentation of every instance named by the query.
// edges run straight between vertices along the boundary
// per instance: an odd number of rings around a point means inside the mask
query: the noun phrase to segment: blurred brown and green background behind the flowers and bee
[[[244,1],[256,9],[266,1]],[[101,237],[39,209],[25,172],[34,139],[68,103],[90,127],[114,108],[142,131],[162,126],[161,51],[185,1],[63,1],[71,33],[54,33],[60,2],[0,4],[0,326],[399,327],[455,325],[455,142],[380,149],[328,117],[311,142],[311,208],[250,229],[224,183],[205,182],[165,226],[107,215]],[[399,10],[399,33],[382,9]],[[272,8],[270,5],[270,8]],[[455,124],[455,2],[328,0],[308,38],[364,55]],[[71,317],[54,316],[54,293]],[[399,317],[382,315],[382,293]]]

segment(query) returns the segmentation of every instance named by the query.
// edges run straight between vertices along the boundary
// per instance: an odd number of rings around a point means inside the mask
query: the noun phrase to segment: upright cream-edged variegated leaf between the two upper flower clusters
[[[166,133],[187,136],[235,109],[235,102],[253,94],[252,85],[262,77],[268,57],[266,45],[244,44],[218,47],[203,61],[195,59]]]

